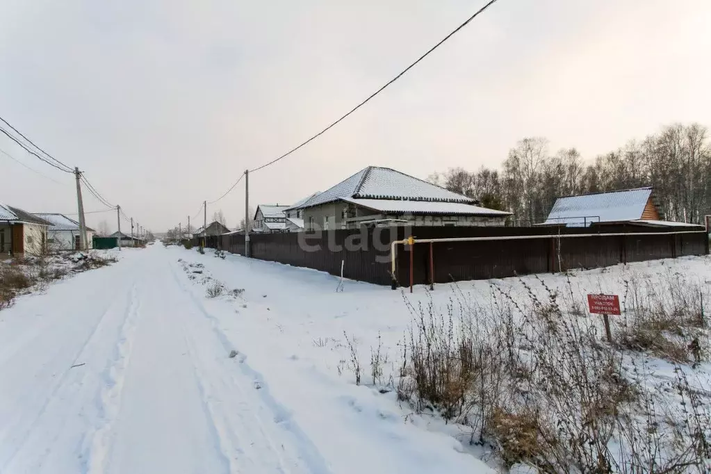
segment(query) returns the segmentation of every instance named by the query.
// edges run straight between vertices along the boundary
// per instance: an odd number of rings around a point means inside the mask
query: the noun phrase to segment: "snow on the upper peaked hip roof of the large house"
[[[346,198],[476,203],[476,200],[467,198],[465,195],[452,193],[400,171],[368,166],[368,168],[363,168],[341,183],[307,200],[301,205],[301,208]]]

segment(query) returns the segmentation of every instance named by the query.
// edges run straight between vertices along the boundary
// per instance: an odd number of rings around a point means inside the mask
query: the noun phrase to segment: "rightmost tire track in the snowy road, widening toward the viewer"
[[[315,473],[327,474],[331,470],[326,466],[324,458],[316,447],[311,443],[306,434],[301,431],[298,425],[291,419],[291,415],[269,394],[269,388],[264,382],[262,375],[245,363],[245,357],[239,360],[228,359],[227,355],[233,346],[225,333],[218,328],[218,320],[212,316],[203,305],[201,298],[193,293],[193,288],[186,286],[181,281],[181,277],[174,267],[171,267],[173,277],[181,289],[191,298],[193,305],[205,318],[205,322],[210,323],[210,330],[203,336],[212,340],[217,340],[221,349],[215,350],[214,344],[197,345],[193,339],[200,330],[198,325],[193,328],[186,328],[183,321],[183,328],[186,333],[188,347],[193,350],[193,363],[199,359],[204,359],[203,364],[196,364],[196,371],[201,379],[201,392],[205,397],[205,404],[210,410],[210,416],[218,433],[220,433],[220,448],[225,456],[230,459],[230,470],[232,473],[243,472],[240,470],[240,455],[246,455],[243,443],[238,434],[244,433],[245,429],[251,434],[257,435],[267,443],[267,453],[260,453],[252,443],[249,448],[257,458],[250,458],[255,467],[265,468],[264,461],[268,459],[269,453],[277,458],[277,465],[274,466],[278,473]],[[208,354],[206,348],[210,348],[213,353]],[[203,352],[199,354],[198,352]],[[237,362],[235,370],[234,362]],[[206,374],[205,367],[218,365],[219,377],[210,377]],[[255,383],[259,384],[259,389],[255,389]],[[242,402],[240,406],[232,407],[229,403],[235,399],[235,393]],[[242,408],[243,407],[243,408]],[[260,412],[266,412],[268,419],[264,419]],[[240,430],[241,429],[241,430]],[[247,433],[248,435],[250,433]],[[284,439],[286,438],[286,439]],[[283,442],[282,442],[283,441]],[[247,446],[245,446],[247,448]],[[245,468],[252,466],[245,466]],[[252,472],[252,470],[247,470]]]

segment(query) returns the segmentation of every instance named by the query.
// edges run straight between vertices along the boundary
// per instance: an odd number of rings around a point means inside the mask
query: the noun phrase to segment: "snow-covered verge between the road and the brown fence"
[[[412,321],[405,301],[415,308],[432,304],[439,313],[447,314],[447,306],[458,298],[486,307],[496,304],[497,295],[528,298],[529,292],[534,291],[545,300],[546,286],[560,293],[572,291],[577,299],[584,301],[586,293],[624,295],[630,291],[631,280],[653,285],[655,281],[675,278],[683,285],[687,280],[704,283],[711,278],[709,257],[684,257],[570,274],[437,285],[432,293],[424,286],[417,286],[410,295],[356,281],[346,281],[343,292],[336,292],[338,278],[335,276],[231,254],[224,260],[217,259],[212,253],[181,251],[175,256],[203,264],[205,274],[221,281],[226,288],[244,289],[245,308],[242,303],[205,298],[206,311],[215,318],[225,338],[245,352],[252,367],[270,381],[275,397],[293,409],[294,419],[314,439],[316,446],[324,447],[326,452],[338,449],[338,441],[319,430],[328,420],[355,424],[368,431],[368,437],[377,440],[379,445],[385,446],[389,440],[393,452],[408,447],[415,460],[413,467],[420,468],[427,465],[423,453],[432,456],[447,451],[469,452],[479,458],[487,458],[487,453],[483,448],[469,446],[470,432],[466,428],[444,426],[436,416],[412,414],[407,404],[397,402],[394,392],[378,392],[391,376],[397,376],[402,362],[402,342],[409,337],[407,332]],[[205,296],[203,286],[197,284],[194,288],[197,295]],[[349,340],[353,342],[355,357]],[[373,352],[378,352],[379,341],[381,357],[387,362],[383,365],[384,383],[374,387],[370,360]],[[648,363],[651,365],[647,369],[657,377],[656,382],[673,378],[670,365],[661,360]],[[360,365],[360,387],[355,386],[355,365]],[[698,377],[695,376],[694,383],[699,389],[711,390],[710,372],[708,364],[695,372]],[[294,393],[294,387],[301,387],[298,393]],[[314,404],[319,406],[316,412],[311,408]],[[443,437],[443,432],[449,436]],[[353,446],[365,449],[370,443],[356,435],[357,431],[351,433],[353,439],[349,438],[349,442]],[[407,442],[392,443],[393,440]],[[390,468],[399,462],[395,460],[397,456],[392,458]],[[347,459],[347,465],[357,465],[360,470],[366,468],[358,456]]]

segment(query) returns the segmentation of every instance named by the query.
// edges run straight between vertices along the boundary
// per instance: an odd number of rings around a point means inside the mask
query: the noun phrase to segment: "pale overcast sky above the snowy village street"
[[[0,116],[156,232],[360,102],[483,0],[3,0]],[[524,136],[585,158],[711,126],[711,1],[499,0],[326,135],[250,176],[293,203],[368,165],[498,166]],[[0,202],[76,212],[73,176],[0,136]],[[208,207],[235,227],[242,183]],[[102,206],[85,193],[85,210]],[[202,217],[201,217],[202,218]],[[115,213],[87,215],[90,225]]]

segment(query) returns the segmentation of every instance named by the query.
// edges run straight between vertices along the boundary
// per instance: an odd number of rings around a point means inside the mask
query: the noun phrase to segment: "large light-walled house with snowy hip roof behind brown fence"
[[[380,166],[368,166],[298,207],[305,230],[361,225],[501,226],[510,212]]]

